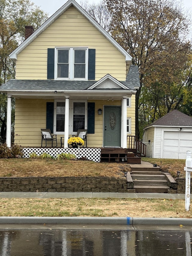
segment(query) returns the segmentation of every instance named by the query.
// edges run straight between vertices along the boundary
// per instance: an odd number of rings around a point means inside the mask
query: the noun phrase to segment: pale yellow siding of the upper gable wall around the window
[[[67,18],[75,14],[78,18]],[[111,74],[126,79],[125,56],[74,7],[70,7],[17,56],[16,79],[47,79],[47,48],[96,49],[95,80]]]

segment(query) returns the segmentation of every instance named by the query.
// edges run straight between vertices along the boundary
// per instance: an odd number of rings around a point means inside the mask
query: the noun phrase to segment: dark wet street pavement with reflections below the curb
[[[192,231],[132,227],[0,228],[2,256],[191,256]]]

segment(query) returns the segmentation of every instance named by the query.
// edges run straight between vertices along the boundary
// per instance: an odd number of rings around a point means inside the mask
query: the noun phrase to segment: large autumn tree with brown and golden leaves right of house
[[[139,67],[141,87],[136,94],[139,135],[139,120],[142,131],[145,124],[181,108],[188,97],[187,91],[191,91],[188,83],[191,44],[187,40],[190,21],[181,8],[182,2],[177,0],[107,0],[98,5],[110,14],[107,31],[131,54],[132,64]],[[101,14],[96,12],[98,5],[86,3],[86,11],[103,26],[98,17]]]

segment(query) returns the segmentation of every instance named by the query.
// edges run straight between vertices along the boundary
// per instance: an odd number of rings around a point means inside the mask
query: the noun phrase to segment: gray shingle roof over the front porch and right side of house
[[[72,81],[72,80],[9,80],[0,86],[0,91],[6,90],[86,90],[97,81]],[[120,81],[130,90],[140,86],[137,66],[131,66],[126,81]],[[96,88],[95,88],[96,89]],[[95,90],[94,89],[94,90]],[[119,88],[120,90],[126,90]],[[110,91],[112,89],[109,89]],[[118,90],[118,89],[115,89]]]

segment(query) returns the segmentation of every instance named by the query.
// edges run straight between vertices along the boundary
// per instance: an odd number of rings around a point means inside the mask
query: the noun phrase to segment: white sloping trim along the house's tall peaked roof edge
[[[42,24],[32,35],[30,35],[22,44],[20,44],[9,57],[13,62],[17,59],[19,54],[25,47],[27,47],[35,38],[38,37],[47,27],[49,27],[58,17],[60,17],[68,8],[74,6],[89,22],[96,27],[124,56],[126,61],[131,61],[131,55],[118,44],[77,2],[69,0],[58,11],[56,11],[44,24]]]

